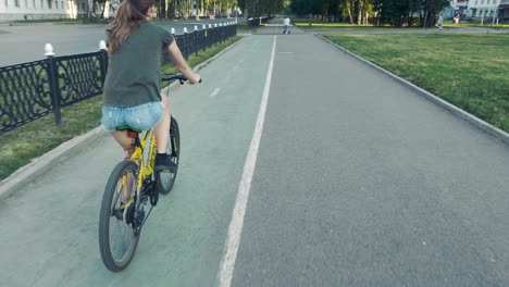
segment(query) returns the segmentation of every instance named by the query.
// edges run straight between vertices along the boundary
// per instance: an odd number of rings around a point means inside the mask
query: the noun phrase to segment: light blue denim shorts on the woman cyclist
[[[120,126],[131,126],[147,130],[164,115],[162,102],[154,101],[129,108],[102,107],[102,125],[107,132],[114,132]]]

